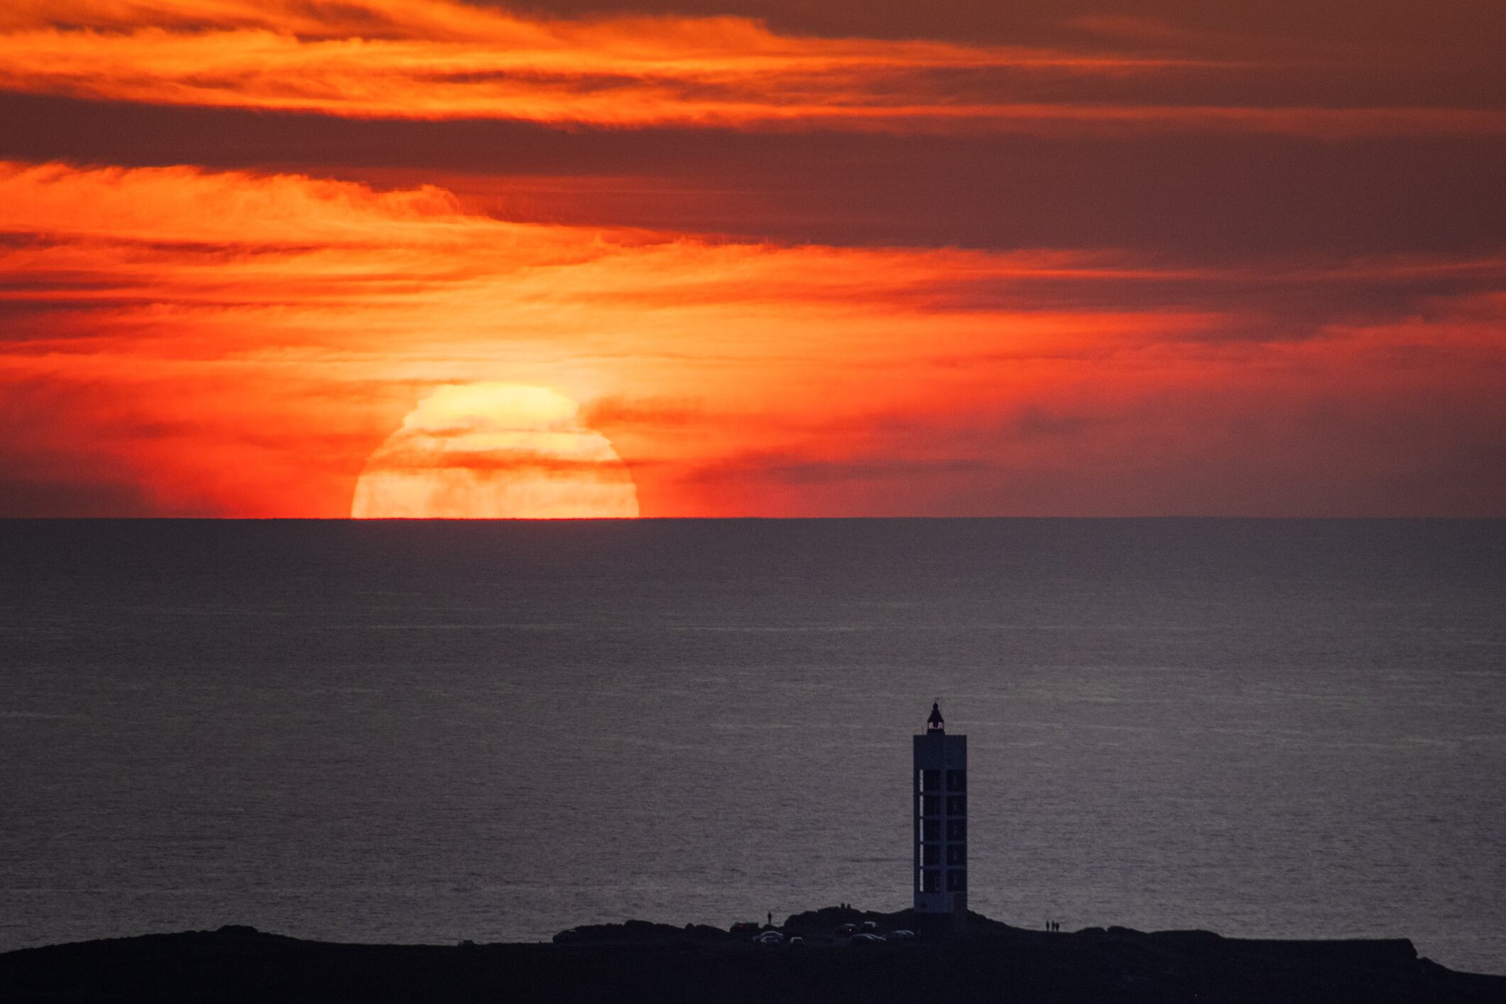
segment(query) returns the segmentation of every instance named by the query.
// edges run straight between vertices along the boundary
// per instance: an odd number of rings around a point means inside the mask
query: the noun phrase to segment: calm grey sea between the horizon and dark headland
[[[1506,972],[1506,522],[0,522],[0,948],[910,897]]]

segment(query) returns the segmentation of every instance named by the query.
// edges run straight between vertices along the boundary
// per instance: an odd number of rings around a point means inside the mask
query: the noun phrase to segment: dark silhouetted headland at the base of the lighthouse
[[[848,945],[839,924],[875,921],[914,941]],[[346,945],[223,927],[0,954],[0,1001],[1021,1001],[1500,1004],[1506,977],[1452,972],[1410,941],[1239,941],[1119,927],[1044,933],[979,915],[964,932],[922,918],[822,909],[780,930],[630,921],[554,944]]]

